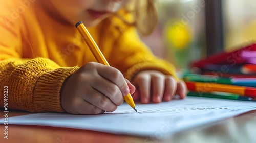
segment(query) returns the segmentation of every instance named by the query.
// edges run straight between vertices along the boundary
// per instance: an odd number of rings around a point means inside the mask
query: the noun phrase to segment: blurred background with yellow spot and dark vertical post
[[[158,26],[142,40],[156,56],[181,69],[188,69],[192,61],[255,41],[255,0],[205,1],[158,0]]]

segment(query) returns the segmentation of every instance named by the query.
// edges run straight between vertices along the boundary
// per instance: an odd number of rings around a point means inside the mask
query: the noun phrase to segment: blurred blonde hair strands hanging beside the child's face
[[[125,8],[126,13],[132,13],[134,18],[132,21],[119,16],[119,18],[127,25],[136,26],[140,34],[146,36],[155,29],[158,16],[156,10],[156,0],[133,0],[129,6]]]

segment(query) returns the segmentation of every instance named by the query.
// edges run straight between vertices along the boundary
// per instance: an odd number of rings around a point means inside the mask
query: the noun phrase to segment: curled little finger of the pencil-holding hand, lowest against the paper
[[[75,114],[83,114],[83,115],[96,115],[96,114],[102,114],[105,111],[90,104],[87,101],[84,101],[83,99],[77,99],[76,101],[76,111]]]

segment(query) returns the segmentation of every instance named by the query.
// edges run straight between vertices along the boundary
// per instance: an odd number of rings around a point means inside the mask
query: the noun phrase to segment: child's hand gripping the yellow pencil
[[[113,112],[123,103],[123,96],[134,91],[135,87],[116,68],[90,62],[66,79],[61,106],[72,114]]]

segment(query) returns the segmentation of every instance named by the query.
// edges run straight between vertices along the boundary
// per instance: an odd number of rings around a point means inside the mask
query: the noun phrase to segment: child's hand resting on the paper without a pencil
[[[132,80],[136,86],[133,94],[134,101],[141,103],[159,103],[170,101],[175,94],[181,99],[186,97],[187,88],[184,81],[176,81],[173,76],[166,76],[157,70],[140,71]]]

